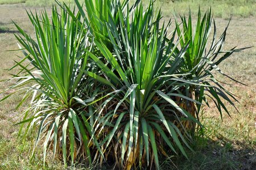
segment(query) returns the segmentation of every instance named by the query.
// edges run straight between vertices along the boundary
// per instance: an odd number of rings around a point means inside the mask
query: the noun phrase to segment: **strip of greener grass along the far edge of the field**
[[[61,0],[62,2],[71,2],[71,0]],[[134,1],[134,0],[132,0]],[[143,0],[147,3],[149,0]],[[26,6],[51,6],[55,3],[55,0],[0,0],[1,4],[13,4],[13,3],[25,3]],[[200,6],[203,10],[206,10],[210,6],[212,7],[215,17],[230,18],[230,16],[236,16],[239,18],[246,18],[249,16],[256,16],[256,1],[254,0],[156,0],[158,7],[162,8],[165,16],[172,16],[176,11],[179,14],[187,14],[189,8],[192,10],[192,14],[197,14],[197,8]]]

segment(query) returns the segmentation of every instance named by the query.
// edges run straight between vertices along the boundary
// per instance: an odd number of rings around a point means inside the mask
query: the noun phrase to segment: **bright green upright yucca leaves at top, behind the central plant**
[[[137,0],[134,5],[129,9],[133,11],[137,6]],[[108,29],[106,23],[117,25],[119,23],[119,10],[124,11],[129,3],[128,0],[85,0],[81,3],[75,0],[76,6],[79,9],[82,18],[85,20],[86,27],[90,30],[91,35],[98,41],[103,41],[108,48],[112,48],[112,43],[109,40]],[[67,6],[67,5],[65,5]],[[85,7],[86,12],[83,7]],[[70,14],[73,12],[69,10]]]

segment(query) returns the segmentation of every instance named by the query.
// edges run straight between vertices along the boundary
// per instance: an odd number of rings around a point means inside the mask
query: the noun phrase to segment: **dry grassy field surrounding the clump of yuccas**
[[[5,69],[13,66],[13,60],[18,60],[17,56],[21,56],[20,52],[6,51],[18,48],[13,35],[16,29],[11,20],[14,20],[14,22],[26,29],[27,32],[32,33],[33,29],[28,20],[25,8],[29,6],[32,11],[42,10],[43,8],[40,6],[49,4],[51,1],[28,0],[25,2],[19,0],[0,0],[0,4],[6,2],[24,2],[24,4],[0,5],[1,79],[9,77]],[[177,13],[183,14],[187,12],[188,6],[190,5],[192,12],[195,14],[199,4],[201,4],[201,8],[203,9],[209,7],[209,5],[214,5],[213,12],[217,17],[216,25],[218,35],[225,28],[228,22],[226,18],[233,11],[234,17],[229,26],[225,49],[228,50],[233,46],[238,46],[238,48],[256,46],[256,14],[253,11],[253,8],[256,8],[255,2],[253,0],[240,0],[234,4],[232,2],[200,0],[175,1],[172,3],[171,1],[163,0],[159,2],[159,6],[162,5],[163,7],[164,19],[168,19],[172,17],[174,6]],[[204,135],[197,133],[195,143],[193,143],[193,148],[196,152],[189,152],[190,160],[176,155],[174,155],[174,158],[171,158],[172,161],[168,159],[163,160],[163,169],[256,168],[256,48],[253,47],[235,54],[222,63],[220,67],[226,74],[247,84],[247,86],[242,86],[238,83],[225,85],[228,90],[231,90],[240,97],[240,104],[237,103],[240,113],[229,107],[230,111],[232,111],[232,118],[225,115],[223,122],[221,122],[216,108],[214,108],[213,103],[210,103],[212,108],[205,108],[201,116],[205,125],[205,129],[202,131]],[[222,79],[222,77],[219,77],[219,79]],[[226,80],[226,82],[231,81]],[[9,84],[10,82],[0,82],[0,91],[5,90]],[[2,97],[0,95],[0,99]],[[31,141],[32,137],[27,138],[27,143],[23,146],[20,138],[17,138],[19,126],[13,126],[16,121],[12,118],[16,114],[13,109],[19,100],[20,96],[15,96],[0,105],[0,169],[41,169],[43,158],[40,150],[30,160],[30,148],[32,146],[29,141]],[[60,162],[49,158],[51,156],[48,156],[47,169],[63,169]],[[77,166],[82,167],[81,165]],[[72,168],[70,167],[70,169]]]

